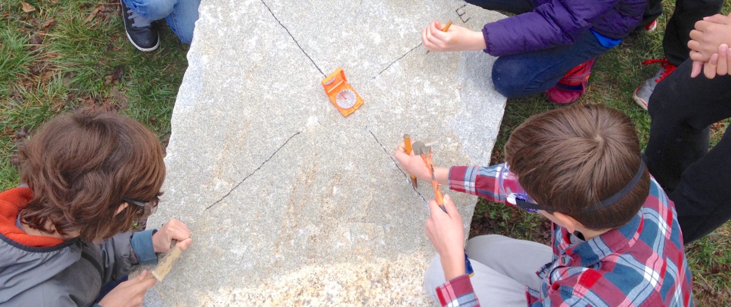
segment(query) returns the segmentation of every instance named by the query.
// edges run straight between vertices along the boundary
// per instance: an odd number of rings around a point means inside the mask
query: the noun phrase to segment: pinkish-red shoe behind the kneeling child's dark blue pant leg
[[[556,86],[546,91],[548,100],[558,105],[566,105],[579,99],[586,92],[586,83],[591,76],[592,66],[594,58],[567,72],[561,80],[558,80]]]

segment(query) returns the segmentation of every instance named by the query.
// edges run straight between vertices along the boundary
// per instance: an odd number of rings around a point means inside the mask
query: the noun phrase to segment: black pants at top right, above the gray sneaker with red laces
[[[688,59],[688,41],[695,23],[705,16],[721,12],[724,0],[676,0],[673,17],[667,22],[662,48],[671,64],[678,66]],[[649,0],[640,26],[645,26],[662,14],[662,0]]]

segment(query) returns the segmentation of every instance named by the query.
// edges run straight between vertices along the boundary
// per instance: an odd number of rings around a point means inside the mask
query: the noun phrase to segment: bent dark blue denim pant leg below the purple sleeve
[[[591,31],[586,31],[572,45],[501,56],[493,65],[493,83],[508,98],[542,93],[556,86],[572,68],[607,50]]]

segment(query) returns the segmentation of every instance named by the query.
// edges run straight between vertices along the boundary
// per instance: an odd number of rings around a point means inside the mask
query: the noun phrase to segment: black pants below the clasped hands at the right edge
[[[650,97],[650,140],[645,159],[675,202],[683,242],[731,219],[731,134],[708,151],[710,125],[731,118],[731,75],[691,78],[683,62]]]

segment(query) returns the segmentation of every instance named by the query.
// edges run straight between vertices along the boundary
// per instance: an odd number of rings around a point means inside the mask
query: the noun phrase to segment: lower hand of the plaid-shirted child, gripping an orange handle
[[[462,216],[452,197],[444,195],[444,209],[439,208],[436,200],[429,202],[431,216],[426,220],[426,235],[442,260],[444,278],[451,280],[466,272],[464,268],[464,226]]]

